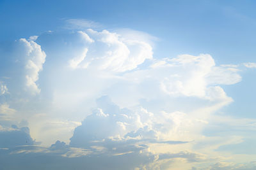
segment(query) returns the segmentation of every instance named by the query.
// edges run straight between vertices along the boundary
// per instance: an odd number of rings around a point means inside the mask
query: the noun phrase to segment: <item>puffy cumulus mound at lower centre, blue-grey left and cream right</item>
[[[165,153],[174,154],[188,149],[182,146],[198,138],[200,128],[205,125],[178,111],[154,114],[143,108],[136,111],[119,108],[107,96],[98,99],[97,106],[98,110],[74,130],[71,147],[122,155],[152,148],[152,153],[161,153],[154,148],[164,145]],[[172,145],[182,146],[173,150]]]

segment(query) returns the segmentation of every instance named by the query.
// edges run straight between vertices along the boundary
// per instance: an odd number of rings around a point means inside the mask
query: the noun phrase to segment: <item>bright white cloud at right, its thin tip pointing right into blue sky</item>
[[[207,96],[209,87],[241,81],[238,71],[236,68],[216,66],[209,54],[179,55],[175,58],[155,60],[148,69],[127,73],[125,77],[144,87],[144,82],[147,82],[147,87],[143,89],[146,90],[147,96],[154,89],[154,96],[164,92],[173,97],[210,99],[210,96]]]

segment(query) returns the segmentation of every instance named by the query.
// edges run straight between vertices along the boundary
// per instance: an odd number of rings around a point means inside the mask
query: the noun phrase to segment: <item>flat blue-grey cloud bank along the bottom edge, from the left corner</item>
[[[115,143],[117,144],[117,143]],[[61,146],[56,148],[56,146]],[[63,147],[64,146],[64,147]],[[127,152],[129,150],[129,152]],[[71,148],[57,141],[50,148],[40,146],[16,146],[0,152],[1,169],[166,169],[161,162],[184,159],[198,162],[196,153],[180,152],[155,154],[147,146],[120,143],[114,150]],[[40,158],[40,159],[38,159]],[[12,160],[12,161],[10,161]],[[47,162],[47,164],[45,164]]]

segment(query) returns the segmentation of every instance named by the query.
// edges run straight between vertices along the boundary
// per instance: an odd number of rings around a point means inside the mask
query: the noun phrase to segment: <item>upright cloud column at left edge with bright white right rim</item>
[[[41,49],[35,40],[37,36],[31,36],[29,39],[20,38],[10,43],[9,46],[3,46],[1,55],[1,81],[0,92],[10,92],[12,96],[19,94],[38,94],[40,89],[36,82],[39,72],[43,69],[45,62],[45,52]],[[6,67],[6,66],[8,67]],[[8,89],[7,89],[8,87]]]

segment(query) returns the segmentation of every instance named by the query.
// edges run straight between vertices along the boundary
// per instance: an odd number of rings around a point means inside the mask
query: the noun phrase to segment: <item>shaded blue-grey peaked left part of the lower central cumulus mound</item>
[[[86,117],[81,126],[76,127],[70,138],[70,146],[86,148],[92,141],[124,136],[127,132],[143,127],[139,115],[120,109],[108,96],[98,99],[97,106],[99,108]]]

